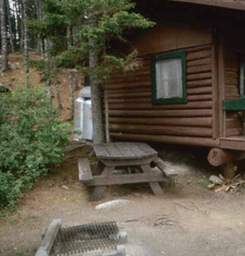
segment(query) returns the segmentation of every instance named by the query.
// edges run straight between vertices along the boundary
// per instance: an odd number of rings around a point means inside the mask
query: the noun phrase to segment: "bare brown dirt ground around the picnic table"
[[[203,151],[165,147],[161,154],[178,172],[164,196],[154,196],[147,184],[110,186],[101,201],[90,202],[92,189],[78,180],[81,150],[65,156],[56,172],[38,180],[0,222],[0,255],[33,256],[41,232],[52,220],[63,226],[117,221],[128,234],[127,256],[244,256],[245,194],[215,193],[198,183],[218,174]],[[126,204],[96,210],[114,199]]]

